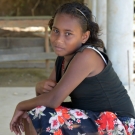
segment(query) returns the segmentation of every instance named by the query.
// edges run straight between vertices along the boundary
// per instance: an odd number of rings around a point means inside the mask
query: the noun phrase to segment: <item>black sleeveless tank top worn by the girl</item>
[[[81,47],[77,52],[83,51],[88,46]],[[97,48],[95,49],[97,50]],[[111,111],[118,116],[135,118],[133,104],[127,94],[127,90],[125,90],[122,82],[119,80],[107,55],[101,51],[100,53],[107,61],[106,67],[98,75],[85,78],[70,93],[72,107],[94,112]],[[58,56],[56,60],[57,82],[61,79],[63,59],[64,57]]]

